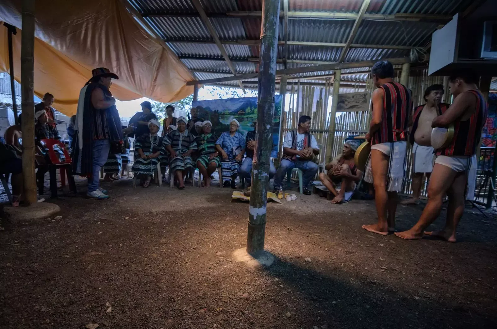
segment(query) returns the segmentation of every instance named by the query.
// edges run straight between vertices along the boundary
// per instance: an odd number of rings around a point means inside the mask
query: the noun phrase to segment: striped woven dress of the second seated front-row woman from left
[[[183,154],[185,154],[189,150],[197,149],[195,137],[190,132],[188,132],[188,130],[185,130],[182,133],[180,133],[179,130],[171,131],[164,137],[163,144],[164,147],[162,149],[164,155],[166,155],[166,145],[169,145],[178,155],[176,158],[172,158],[169,155],[169,168],[171,172],[195,167],[191,157],[183,158]]]

